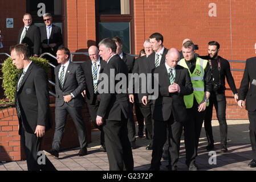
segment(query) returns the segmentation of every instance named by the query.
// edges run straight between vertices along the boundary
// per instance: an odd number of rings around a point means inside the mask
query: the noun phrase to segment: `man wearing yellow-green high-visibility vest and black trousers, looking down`
[[[182,54],[179,64],[189,69],[193,84],[193,93],[184,96],[184,102],[189,114],[189,121],[184,125],[184,139],[186,149],[186,165],[189,171],[197,171],[196,156],[205,109],[209,105],[210,92],[213,88],[212,73],[207,60],[195,56],[195,47],[192,41],[182,45]]]

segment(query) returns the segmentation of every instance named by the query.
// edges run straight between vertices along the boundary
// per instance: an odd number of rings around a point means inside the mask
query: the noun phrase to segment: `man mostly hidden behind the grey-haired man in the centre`
[[[112,40],[115,41],[116,43],[116,53],[121,57],[121,59],[123,59],[124,63],[127,65],[128,68],[128,73],[132,73],[132,68],[135,62],[135,57],[127,55],[126,53],[124,53],[122,51],[123,48],[123,42],[122,40],[119,38],[119,36],[115,36],[114,38],[112,38]],[[133,104],[129,103],[131,110],[133,111]],[[135,122],[133,119],[133,113],[132,113],[132,117],[128,119],[127,121],[127,129],[128,129],[128,138],[129,141],[131,143],[132,149],[137,148],[136,146],[136,131],[135,131]]]

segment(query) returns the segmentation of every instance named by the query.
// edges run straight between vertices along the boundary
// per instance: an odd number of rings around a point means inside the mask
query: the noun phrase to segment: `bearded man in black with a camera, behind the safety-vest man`
[[[226,97],[225,97],[225,77],[229,84],[235,100],[238,99],[237,89],[235,88],[234,78],[231,75],[229,61],[218,56],[220,44],[216,41],[208,43],[208,56],[200,56],[202,59],[209,60],[213,76],[213,90],[210,93],[209,106],[206,107],[204,119],[205,133],[208,139],[207,150],[214,148],[212,115],[213,105],[216,109],[217,118],[220,123],[221,151],[227,152],[227,122],[226,122]]]

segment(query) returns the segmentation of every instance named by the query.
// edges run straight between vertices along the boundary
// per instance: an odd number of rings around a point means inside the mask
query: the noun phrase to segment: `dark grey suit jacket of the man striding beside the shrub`
[[[84,104],[84,98],[82,91],[86,89],[86,79],[84,78],[84,72],[81,65],[72,63],[68,64],[67,71],[64,77],[63,88],[60,88],[59,84],[59,69],[61,64],[54,68],[55,71],[55,91],[56,91],[56,106],[64,105],[63,96],[73,94],[75,98],[72,98],[67,104],[71,107],[82,107]]]

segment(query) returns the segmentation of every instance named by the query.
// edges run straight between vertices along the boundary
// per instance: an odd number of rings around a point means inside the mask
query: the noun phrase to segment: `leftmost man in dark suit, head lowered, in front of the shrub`
[[[15,90],[15,106],[27,169],[29,171],[56,170],[47,158],[46,164],[38,163],[42,138],[45,131],[52,125],[46,72],[29,59],[29,48],[25,44],[11,47],[10,52],[15,67],[23,69]]]

